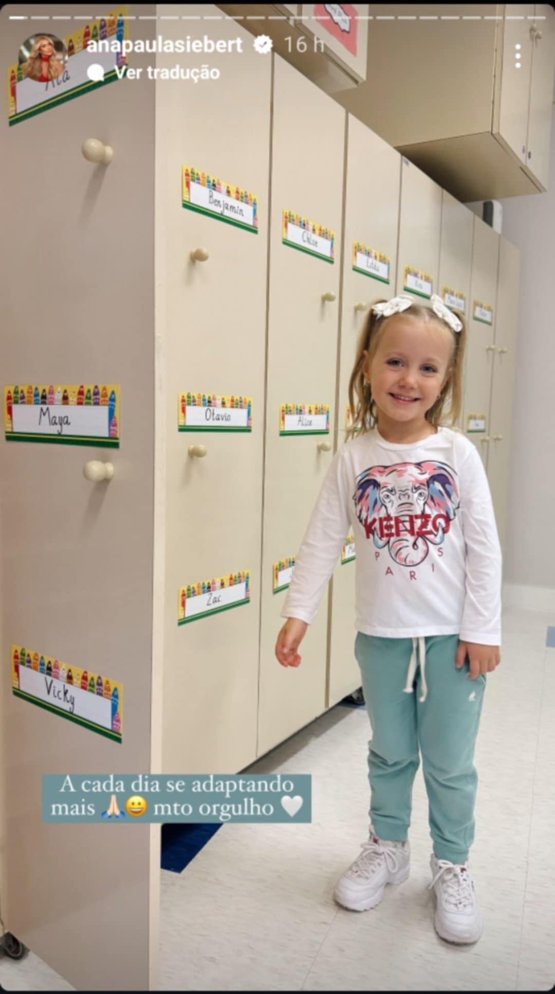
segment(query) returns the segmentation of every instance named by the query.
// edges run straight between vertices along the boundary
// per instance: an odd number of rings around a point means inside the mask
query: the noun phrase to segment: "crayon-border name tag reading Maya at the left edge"
[[[7,441],[118,448],[119,417],[119,387],[113,384],[4,387]]]

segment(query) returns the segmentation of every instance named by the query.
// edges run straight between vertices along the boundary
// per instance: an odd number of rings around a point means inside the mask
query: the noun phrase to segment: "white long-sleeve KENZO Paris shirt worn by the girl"
[[[401,444],[373,428],[339,448],[281,617],[312,622],[349,532],[358,631],[500,646],[501,549],[485,470],[462,432],[441,426]]]

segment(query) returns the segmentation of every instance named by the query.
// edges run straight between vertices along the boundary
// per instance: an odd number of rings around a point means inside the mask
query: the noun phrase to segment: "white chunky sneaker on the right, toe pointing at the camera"
[[[448,942],[477,942],[483,930],[483,920],[477,907],[474,882],[468,861],[461,866],[439,860],[432,853],[430,860],[437,908],[434,925],[438,935]]]

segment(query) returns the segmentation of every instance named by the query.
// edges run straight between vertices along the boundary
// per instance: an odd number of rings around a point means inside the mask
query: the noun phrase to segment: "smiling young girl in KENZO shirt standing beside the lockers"
[[[370,308],[349,382],[348,444],[331,460],[296,557],[276,655],[299,665],[352,529],[371,824],[334,898],[365,911],[409,876],[420,748],[435,926],[442,938],[475,942],[483,925],[467,859],[472,763],[486,674],[500,662],[501,550],[478,450],[440,423],[461,414],[464,323],[441,297],[430,303],[401,295]]]

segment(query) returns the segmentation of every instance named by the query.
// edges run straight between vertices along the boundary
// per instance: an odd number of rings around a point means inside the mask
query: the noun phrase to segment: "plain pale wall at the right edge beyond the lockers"
[[[555,606],[555,120],[548,192],[500,203],[501,234],[520,249],[503,584],[543,587],[524,591],[523,606]]]

